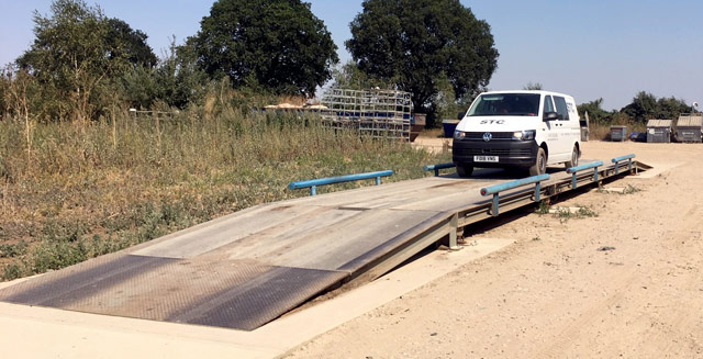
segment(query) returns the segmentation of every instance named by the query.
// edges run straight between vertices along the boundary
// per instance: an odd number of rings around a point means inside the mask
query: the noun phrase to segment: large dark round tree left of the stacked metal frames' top
[[[201,68],[232,86],[312,96],[332,76],[336,46],[300,0],[217,0],[189,40]]]

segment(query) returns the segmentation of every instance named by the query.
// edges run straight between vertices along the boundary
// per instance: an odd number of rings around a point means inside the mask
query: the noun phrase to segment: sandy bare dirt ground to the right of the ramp
[[[703,358],[703,145],[583,143],[631,153],[665,171],[553,204],[594,216],[506,216],[473,236],[514,245],[287,358]]]

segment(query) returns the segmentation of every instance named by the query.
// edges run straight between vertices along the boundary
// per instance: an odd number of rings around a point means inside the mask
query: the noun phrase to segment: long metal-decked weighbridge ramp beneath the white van
[[[616,168],[618,170],[616,170]],[[648,166],[633,162],[632,171]],[[617,173],[616,173],[617,172]],[[627,164],[600,179],[628,173]],[[505,173],[424,178],[258,205],[116,254],[31,278],[0,301],[253,330],[337,285],[372,280],[457,228],[491,216],[479,189]],[[581,175],[578,183],[589,183]],[[551,175],[543,199],[570,190]],[[501,195],[501,213],[534,203]]]

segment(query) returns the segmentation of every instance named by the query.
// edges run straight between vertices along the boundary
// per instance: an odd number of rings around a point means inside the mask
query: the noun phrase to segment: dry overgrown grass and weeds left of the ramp
[[[34,123],[29,136],[24,123],[0,122],[0,276],[59,269],[306,195],[286,189],[293,180],[380,169],[403,180],[438,160],[447,158],[334,132],[314,116],[233,108],[168,117],[114,112],[89,126]]]

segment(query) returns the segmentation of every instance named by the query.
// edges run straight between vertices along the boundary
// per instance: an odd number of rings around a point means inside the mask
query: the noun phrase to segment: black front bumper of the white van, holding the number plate
[[[537,157],[537,143],[529,141],[454,139],[451,159],[455,165],[481,168],[529,167]],[[475,156],[496,156],[498,162],[475,161]]]

